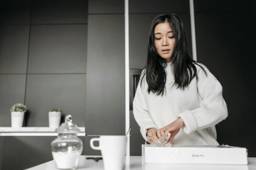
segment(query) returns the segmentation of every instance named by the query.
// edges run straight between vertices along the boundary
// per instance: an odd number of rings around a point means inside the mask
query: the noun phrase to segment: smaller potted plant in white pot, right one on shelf
[[[61,123],[60,108],[52,108],[49,111],[49,127],[59,127]]]

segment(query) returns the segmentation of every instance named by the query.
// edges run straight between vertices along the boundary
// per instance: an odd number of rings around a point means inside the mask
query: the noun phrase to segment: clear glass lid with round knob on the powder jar
[[[55,130],[57,133],[63,133],[63,134],[77,134],[80,132],[80,129],[77,127],[75,123],[72,123],[72,116],[67,115],[65,117],[65,122],[60,125]]]

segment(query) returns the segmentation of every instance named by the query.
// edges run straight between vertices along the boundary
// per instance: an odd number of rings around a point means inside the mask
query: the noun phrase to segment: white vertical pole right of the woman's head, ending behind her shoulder
[[[194,1],[189,0],[189,5],[190,5],[190,21],[191,21],[191,35],[192,35],[192,53],[193,53],[193,60],[197,61],[196,41],[195,41]]]

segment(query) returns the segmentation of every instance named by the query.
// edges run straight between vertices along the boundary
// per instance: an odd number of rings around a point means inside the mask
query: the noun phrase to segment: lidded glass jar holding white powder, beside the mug
[[[75,169],[83,150],[82,140],[77,137],[80,129],[72,123],[71,115],[67,115],[56,132],[59,135],[51,142],[51,152],[57,168]]]

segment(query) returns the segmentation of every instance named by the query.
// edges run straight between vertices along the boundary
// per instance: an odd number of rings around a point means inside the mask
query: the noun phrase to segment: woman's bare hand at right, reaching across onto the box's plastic
[[[172,143],[175,135],[178,134],[180,128],[182,128],[183,126],[184,126],[183,120],[181,118],[178,118],[171,124],[168,124],[167,126],[161,128],[161,129],[158,129],[156,132],[157,137],[160,138],[170,132],[171,136],[170,136],[168,142]]]

